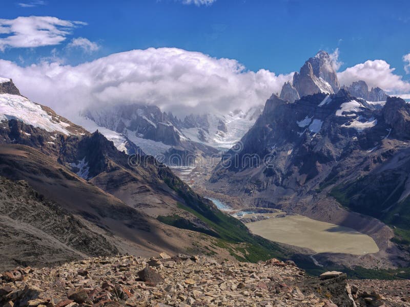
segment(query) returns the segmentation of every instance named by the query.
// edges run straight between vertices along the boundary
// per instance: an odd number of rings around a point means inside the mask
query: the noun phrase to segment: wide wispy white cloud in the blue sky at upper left
[[[73,28],[87,25],[81,21],[62,20],[51,16],[0,19],[0,51],[6,48],[34,48],[58,45]]]

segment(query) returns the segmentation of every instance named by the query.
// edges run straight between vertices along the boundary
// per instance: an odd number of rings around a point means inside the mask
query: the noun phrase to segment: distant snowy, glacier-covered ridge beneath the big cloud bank
[[[117,104],[91,107],[82,116],[86,118],[83,123],[86,127],[90,130],[98,128],[112,138],[120,150],[128,141],[149,155],[164,156],[164,162],[170,164],[169,158],[175,154],[210,157],[219,150],[229,149],[248,131],[260,113],[261,107],[254,107],[247,113],[237,110],[229,115],[191,114],[181,120],[154,105]],[[181,165],[189,164],[181,162]]]

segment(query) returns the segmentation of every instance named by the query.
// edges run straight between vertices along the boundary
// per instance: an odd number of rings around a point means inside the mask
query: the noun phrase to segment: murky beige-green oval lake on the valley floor
[[[302,215],[271,217],[245,225],[264,238],[309,248],[316,253],[364,255],[379,251],[373,238],[366,234]]]

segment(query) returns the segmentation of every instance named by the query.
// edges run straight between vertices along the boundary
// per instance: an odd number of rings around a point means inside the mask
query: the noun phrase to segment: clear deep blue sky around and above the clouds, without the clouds
[[[174,0],[47,0],[33,7],[18,3],[36,2],[4,2],[1,17],[55,16],[88,24],[73,29],[60,45],[8,48],[0,54],[10,60],[21,56],[26,64],[54,48],[63,49],[71,36],[100,45],[93,54],[64,52],[73,64],[132,49],[178,47],[237,59],[253,71],[288,73],[319,49],[339,48],[341,69],[384,59],[405,75],[402,57],[410,53],[408,1],[216,0],[197,6]]]

